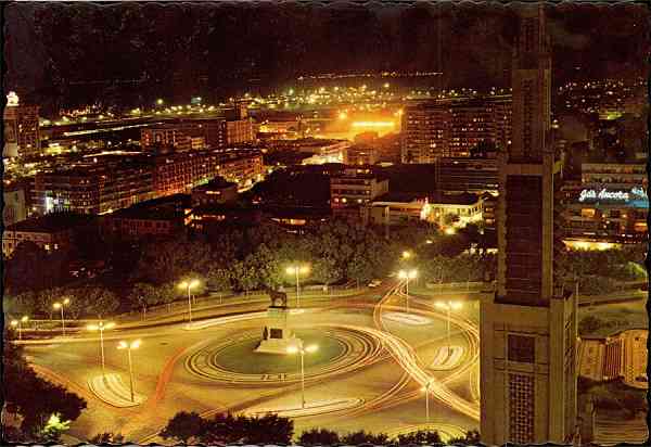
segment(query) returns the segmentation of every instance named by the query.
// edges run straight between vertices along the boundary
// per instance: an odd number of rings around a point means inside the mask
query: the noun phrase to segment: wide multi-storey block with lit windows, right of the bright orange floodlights
[[[403,114],[403,163],[470,157],[480,143],[508,148],[509,97],[419,101]]]

